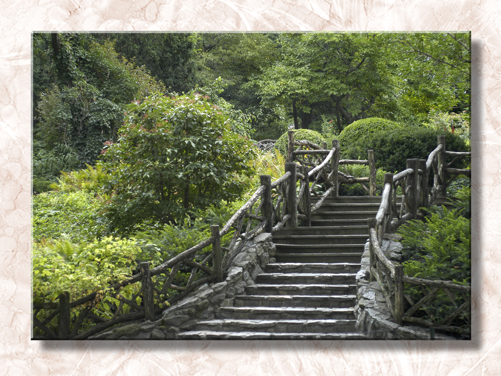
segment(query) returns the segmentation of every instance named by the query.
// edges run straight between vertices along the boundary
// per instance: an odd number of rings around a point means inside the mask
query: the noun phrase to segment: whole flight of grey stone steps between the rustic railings
[[[315,199],[312,198],[315,203]],[[380,197],[333,197],[312,227],[273,234],[276,263],[180,339],[365,339],[355,329],[356,274]]]

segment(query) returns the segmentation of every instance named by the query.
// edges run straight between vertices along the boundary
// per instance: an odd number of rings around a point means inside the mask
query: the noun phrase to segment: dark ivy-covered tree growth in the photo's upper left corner
[[[49,37],[50,36],[50,37]],[[35,138],[48,149],[68,145],[79,162],[93,164],[123,123],[124,107],[163,90],[144,67],[120,59],[112,43],[88,34],[41,34],[52,39],[54,85],[40,93]]]

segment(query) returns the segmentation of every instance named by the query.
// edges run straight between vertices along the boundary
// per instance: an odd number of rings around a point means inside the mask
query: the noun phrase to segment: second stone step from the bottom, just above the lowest
[[[355,319],[214,319],[200,321],[194,330],[211,331],[259,331],[268,333],[346,333],[356,332]]]

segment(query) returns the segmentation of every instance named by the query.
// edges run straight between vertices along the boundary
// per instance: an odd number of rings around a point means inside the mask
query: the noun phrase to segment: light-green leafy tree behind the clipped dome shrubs
[[[312,112],[330,108],[341,131],[367,116],[377,101],[393,101],[393,67],[377,34],[282,34],[281,60],[253,81],[264,103],[292,109],[295,127],[308,128]]]

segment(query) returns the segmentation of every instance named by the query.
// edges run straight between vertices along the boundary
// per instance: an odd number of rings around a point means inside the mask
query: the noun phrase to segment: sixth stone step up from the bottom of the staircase
[[[265,273],[258,274],[256,283],[269,284],[346,284],[355,283],[357,273]]]

